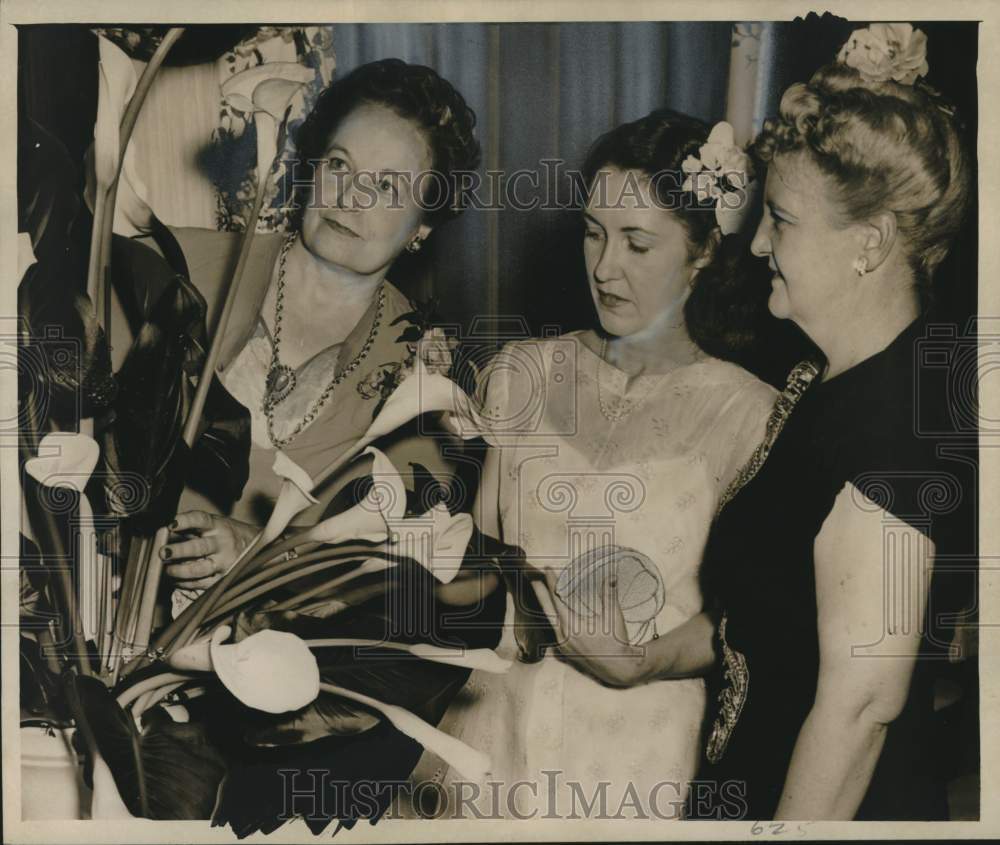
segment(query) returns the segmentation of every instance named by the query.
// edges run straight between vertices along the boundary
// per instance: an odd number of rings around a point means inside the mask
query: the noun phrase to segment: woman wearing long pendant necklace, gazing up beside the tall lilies
[[[255,237],[218,370],[250,412],[249,481],[235,502],[185,492],[162,552],[182,590],[214,583],[265,521],[281,483],[271,469],[275,449],[311,474],[370,425],[380,379],[413,354],[398,323],[414,308],[386,275],[462,211],[459,174],[479,163],[475,122],[450,83],[398,59],[336,80],[303,122],[297,226]],[[175,234],[211,326],[239,236]],[[427,438],[398,435],[382,445],[404,474],[411,462],[444,471]],[[342,486],[318,492],[298,519],[315,522]]]

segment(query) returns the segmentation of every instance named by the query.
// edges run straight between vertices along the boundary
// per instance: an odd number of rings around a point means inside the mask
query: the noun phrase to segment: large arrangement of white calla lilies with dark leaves
[[[172,714],[211,700],[232,708],[233,721],[245,724],[252,743],[291,748],[330,735],[364,737],[385,722],[463,775],[485,777],[489,760],[434,724],[469,671],[502,672],[508,664],[491,650],[492,633],[440,630],[430,599],[435,585],[478,577],[466,560],[470,550],[482,557],[484,548],[491,549],[486,565],[512,552],[490,547],[469,514],[453,513],[441,502],[428,506],[425,491],[407,490],[375,445],[421,415],[461,414],[469,403],[448,378],[454,342],[431,328],[420,310],[400,318],[400,339],[410,345],[407,361],[362,385],[380,399],[364,435],[314,476],[277,452],[273,470],[282,485],[265,526],[219,581],[154,636],[158,550],[185,479],[207,467],[219,483],[241,488],[249,450],[246,421],[230,419],[232,409],[213,388],[213,374],[255,227],[244,232],[210,339],[204,301],[187,278],[176,242],[139,192],[118,190],[130,126],[182,34],[174,28],[163,36],[134,89],[118,87],[124,92],[121,120],[99,121],[90,178],[93,226],[77,214],[79,203],[49,190],[76,179],[41,178],[69,166],[58,145],[40,134],[30,146],[37,161],[28,162],[26,184],[35,192],[25,190],[26,205],[40,217],[26,217],[32,248],[25,242],[22,250],[21,354],[40,363],[37,383],[21,390],[21,463],[25,531],[31,535],[23,545],[38,566],[21,570],[22,631],[34,626],[36,634],[21,638],[28,672],[22,689],[33,712],[75,724],[97,793],[95,817],[211,817],[245,834],[274,829],[284,820],[283,808],[237,800],[251,775],[220,757],[198,733],[197,720],[177,721]],[[110,72],[111,64],[104,70]],[[252,114],[262,150],[255,219],[265,177],[275,172],[284,147],[288,104],[305,80],[292,68],[246,80],[254,84],[233,97]],[[108,90],[114,87],[109,77]],[[111,221],[120,194],[135,200],[129,219],[152,233],[163,258],[142,248],[112,261]],[[56,244],[46,226],[76,233],[72,243],[79,249]],[[75,260],[69,268],[67,255]],[[65,279],[73,273],[82,279],[83,268],[90,295],[67,297]],[[112,372],[108,286],[142,290],[140,277],[145,289],[160,293],[135,303],[136,339]],[[43,342],[43,327],[54,323],[60,337],[79,341],[67,345],[74,354]],[[90,422],[77,426],[73,414],[80,411]],[[290,530],[317,501],[314,493],[355,469],[356,461],[370,469],[351,488],[349,501],[314,525]],[[416,475],[418,486],[430,483]],[[98,502],[120,517],[116,532],[98,535]],[[121,571],[116,563],[123,564]],[[80,573],[79,584],[73,571]],[[420,637],[397,630],[387,603],[373,601],[400,594],[422,614]],[[397,779],[409,774],[402,757],[388,765]],[[355,820],[343,813],[339,818]]]

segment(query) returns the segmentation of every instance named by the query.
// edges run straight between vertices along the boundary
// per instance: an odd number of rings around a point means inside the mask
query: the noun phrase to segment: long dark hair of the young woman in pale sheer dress
[[[715,200],[699,201],[693,192],[681,189],[687,175],[681,164],[689,155],[697,156],[707,139],[708,127],[700,120],[658,109],[598,138],[582,175],[588,195],[597,189],[598,172],[608,167],[650,179],[654,202],[684,227],[689,258],[710,259],[695,275],[684,305],[688,334],[708,354],[740,360],[757,339],[763,314],[763,300],[750,283],[753,259],[739,236],[721,235]]]

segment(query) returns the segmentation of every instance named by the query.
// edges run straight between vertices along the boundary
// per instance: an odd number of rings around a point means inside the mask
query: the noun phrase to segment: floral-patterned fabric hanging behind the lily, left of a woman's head
[[[219,59],[219,85],[248,68],[268,62],[299,62],[314,68],[312,82],[295,95],[288,121],[285,156],[294,151],[295,130],[309,113],[320,92],[333,78],[336,59],[333,53],[333,27],[292,26],[261,27],[257,34],[238,44]],[[216,172],[218,179],[218,228],[242,232],[257,191],[254,169],[256,161],[256,129],[251,115],[244,114],[222,100],[219,107],[219,127],[212,134],[213,157],[225,162]],[[286,205],[292,194],[290,174],[282,164],[268,185],[264,208],[257,221],[258,232],[289,230]]]

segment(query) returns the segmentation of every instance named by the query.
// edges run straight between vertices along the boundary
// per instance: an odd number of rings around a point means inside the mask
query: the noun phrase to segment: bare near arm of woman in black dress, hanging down
[[[926,536],[856,488],[837,496],[815,542],[816,700],[776,819],[854,818],[906,702],[933,561]]]

